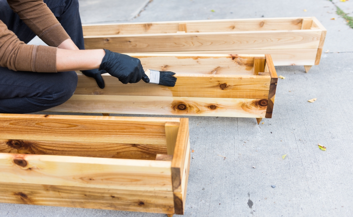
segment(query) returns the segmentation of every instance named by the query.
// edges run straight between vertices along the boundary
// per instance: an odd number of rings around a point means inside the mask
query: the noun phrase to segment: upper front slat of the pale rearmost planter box
[[[113,52],[170,52],[244,49],[318,48],[321,30],[198,32],[85,36],[86,49]]]

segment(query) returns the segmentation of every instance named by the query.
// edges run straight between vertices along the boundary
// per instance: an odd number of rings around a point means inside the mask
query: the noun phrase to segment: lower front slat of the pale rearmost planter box
[[[203,50],[146,52],[146,54],[271,54],[275,66],[314,65],[317,48],[311,49],[262,49],[262,50]],[[133,53],[126,53],[133,55]]]

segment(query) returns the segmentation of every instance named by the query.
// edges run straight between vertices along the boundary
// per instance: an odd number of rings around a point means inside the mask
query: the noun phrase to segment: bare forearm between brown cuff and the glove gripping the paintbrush
[[[103,49],[97,50],[66,50],[56,51],[56,71],[78,71],[99,68],[105,55]]]

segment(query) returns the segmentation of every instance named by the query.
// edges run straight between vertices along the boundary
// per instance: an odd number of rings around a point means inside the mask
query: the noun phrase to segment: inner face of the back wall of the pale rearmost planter
[[[179,29],[179,23],[186,23],[188,32],[299,30],[302,20],[305,18],[310,19],[311,17],[85,24],[82,25],[82,28],[84,36],[158,34],[184,31]]]

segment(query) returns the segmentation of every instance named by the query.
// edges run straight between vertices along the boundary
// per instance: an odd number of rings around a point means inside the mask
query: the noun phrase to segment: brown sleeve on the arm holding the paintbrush
[[[14,71],[56,72],[56,47],[25,44],[0,20],[0,66]]]

